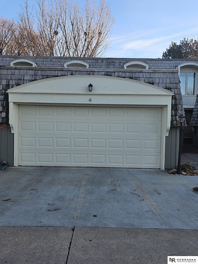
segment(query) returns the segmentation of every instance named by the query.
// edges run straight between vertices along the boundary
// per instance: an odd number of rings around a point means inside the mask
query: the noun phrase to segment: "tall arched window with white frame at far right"
[[[185,62],[176,67],[179,71],[179,80],[182,95],[195,96],[198,85],[198,63]]]

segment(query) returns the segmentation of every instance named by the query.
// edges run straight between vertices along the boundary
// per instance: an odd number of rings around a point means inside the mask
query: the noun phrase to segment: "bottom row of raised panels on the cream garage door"
[[[29,150],[30,151],[30,150]],[[42,166],[102,166],[102,167],[134,167],[134,168],[159,168],[160,154],[151,155],[150,153],[81,153],[79,151],[48,153],[45,150],[34,153],[25,151],[20,153],[20,165],[42,165]],[[73,165],[75,164],[75,165]]]

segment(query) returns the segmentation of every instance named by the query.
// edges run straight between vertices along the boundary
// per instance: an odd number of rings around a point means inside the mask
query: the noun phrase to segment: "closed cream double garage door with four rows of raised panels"
[[[161,108],[20,106],[19,165],[159,168]]]

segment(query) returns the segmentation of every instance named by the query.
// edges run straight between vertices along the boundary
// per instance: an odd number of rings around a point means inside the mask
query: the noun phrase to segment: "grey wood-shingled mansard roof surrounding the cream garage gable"
[[[11,61],[24,58],[31,60],[37,67],[12,67]],[[67,68],[66,62],[82,60],[89,68]],[[123,69],[123,65],[131,61],[141,61],[149,65],[149,69]],[[174,93],[172,97],[171,126],[179,126],[178,116],[184,114],[180,90],[179,64],[197,60],[184,59],[144,59],[144,58],[68,58],[68,57],[31,57],[0,56],[0,110],[6,111],[0,117],[0,123],[8,123],[8,94],[6,91],[34,80],[42,80],[59,76],[100,75],[121,77],[153,84]],[[4,117],[5,115],[5,117]]]

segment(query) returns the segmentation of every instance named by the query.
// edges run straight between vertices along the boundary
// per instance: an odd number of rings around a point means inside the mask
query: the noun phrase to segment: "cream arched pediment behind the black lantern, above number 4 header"
[[[75,75],[55,77],[33,81],[15,88],[8,93],[53,93],[53,94],[90,94],[88,84],[93,84],[92,94],[123,94],[123,95],[164,95],[173,93],[166,89],[144,82],[119,77]]]

